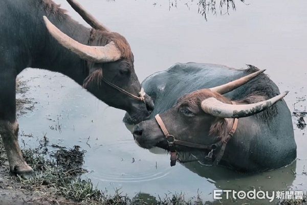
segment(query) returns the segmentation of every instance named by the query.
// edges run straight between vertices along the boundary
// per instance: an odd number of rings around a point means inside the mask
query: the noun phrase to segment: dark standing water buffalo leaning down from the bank
[[[153,110],[134,71],[126,39],[74,0],[67,1],[91,29],[51,0],[0,1],[0,134],[10,171],[16,174],[33,172],[18,145],[15,104],[15,79],[27,67],[63,73],[107,105],[139,120]]]

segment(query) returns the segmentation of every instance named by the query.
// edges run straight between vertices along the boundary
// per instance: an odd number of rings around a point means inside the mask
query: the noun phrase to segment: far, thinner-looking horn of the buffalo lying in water
[[[248,83],[250,80],[252,80],[253,78],[257,77],[258,75],[260,75],[261,73],[265,72],[266,70],[259,70],[257,72],[254,72],[252,74],[249,74],[247,76],[241,77],[237,80],[233,80],[227,84],[221,85],[221,86],[217,86],[214,88],[210,88],[211,91],[215,91],[217,93],[220,94],[225,94],[228,93],[230,91],[233,91],[234,89],[243,86],[244,84]]]

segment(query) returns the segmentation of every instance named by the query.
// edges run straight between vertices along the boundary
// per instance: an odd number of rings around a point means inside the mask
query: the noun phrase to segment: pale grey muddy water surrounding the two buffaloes
[[[82,19],[63,0],[62,7],[80,22]],[[307,93],[307,2],[258,0],[237,3],[230,15],[209,16],[208,22],[183,3],[168,8],[168,1],[85,1],[79,0],[110,29],[123,34],[135,54],[136,72],[142,81],[172,64],[188,61],[223,64],[244,68],[252,64],[276,82],[291,111],[294,103]],[[90,2],[90,3],[89,3]],[[158,3],[153,6],[153,3]],[[162,5],[160,5],[162,4]],[[20,137],[26,146],[38,144],[45,133],[50,144],[87,150],[84,177],[108,192],[123,193],[183,192],[212,200],[214,189],[287,189],[307,191],[307,130],[295,126],[298,159],[290,166],[261,174],[242,175],[224,168],[212,170],[198,163],[169,167],[165,153],[153,154],[139,148],[121,119],[124,111],[106,106],[80,86],[58,73],[27,69],[20,74],[29,80],[28,97],[38,104],[34,112],[19,118],[20,131],[34,137]],[[296,104],[304,110],[306,101]],[[293,121],[297,119],[293,117]],[[60,129],[58,128],[60,126]],[[23,145],[22,145],[23,146]],[[267,203],[266,201],[258,201]]]

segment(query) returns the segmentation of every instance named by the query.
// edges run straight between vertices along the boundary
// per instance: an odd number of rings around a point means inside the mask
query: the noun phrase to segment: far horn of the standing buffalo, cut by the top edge
[[[94,16],[92,16],[92,14],[87,12],[78,2],[76,2],[75,0],[67,0],[67,2],[91,27],[97,30],[109,32],[109,30],[105,26],[98,22],[98,20]]]

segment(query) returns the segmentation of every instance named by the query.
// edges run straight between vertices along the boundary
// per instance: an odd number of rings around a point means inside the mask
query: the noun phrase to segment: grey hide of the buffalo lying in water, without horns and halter
[[[169,149],[167,140],[154,116],[160,114],[166,128],[177,139],[211,145],[228,134],[233,119],[218,118],[204,113],[201,102],[215,97],[230,104],[253,104],[279,95],[279,89],[264,73],[224,96],[207,91],[258,71],[253,66],[237,70],[212,64],[176,64],[166,71],[147,77],[142,86],[155,103],[150,119],[134,127],[139,146]],[[195,92],[194,92],[195,91]],[[126,114],[126,123],[135,122]],[[208,151],[177,146],[179,153]],[[195,154],[195,153],[194,153]],[[281,99],[275,105],[255,115],[238,119],[238,127],[228,142],[220,165],[240,172],[258,172],[280,168],[296,158],[296,142],[290,110]],[[202,160],[202,158],[199,158]]]

